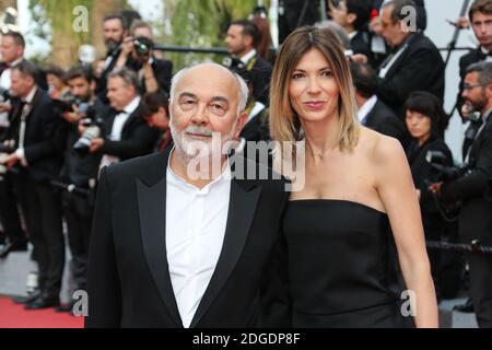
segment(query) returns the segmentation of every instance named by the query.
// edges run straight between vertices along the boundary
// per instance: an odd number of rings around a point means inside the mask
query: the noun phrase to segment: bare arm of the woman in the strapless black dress
[[[415,295],[415,326],[437,327],[434,283],[419,199],[407,158],[397,140],[382,137],[374,151],[374,161],[377,190],[388,213],[407,289]]]

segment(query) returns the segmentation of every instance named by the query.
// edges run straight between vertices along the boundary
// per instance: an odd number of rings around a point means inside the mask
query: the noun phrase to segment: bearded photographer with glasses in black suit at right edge
[[[481,126],[466,155],[465,166],[454,180],[431,185],[443,200],[459,202],[458,230],[465,243],[492,245],[492,62],[482,61],[467,69],[464,100],[480,113]],[[492,327],[492,257],[470,254],[470,292],[479,327]]]

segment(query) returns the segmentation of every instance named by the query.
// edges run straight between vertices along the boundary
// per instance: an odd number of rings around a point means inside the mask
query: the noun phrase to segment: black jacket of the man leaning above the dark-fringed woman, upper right
[[[408,47],[379,81],[377,95],[402,118],[410,93],[427,91],[443,101],[444,61],[435,45],[422,33],[412,34]]]

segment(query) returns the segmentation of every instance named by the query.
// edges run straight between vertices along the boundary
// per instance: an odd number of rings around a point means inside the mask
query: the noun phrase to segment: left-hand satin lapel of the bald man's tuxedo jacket
[[[137,179],[137,192],[142,234],[143,250],[150,271],[177,327],[183,327],[176,304],[173,285],[167,265],[165,212],[166,212],[166,164],[169,152],[163,153],[157,163],[156,172],[163,172],[162,178],[154,185],[148,186]]]

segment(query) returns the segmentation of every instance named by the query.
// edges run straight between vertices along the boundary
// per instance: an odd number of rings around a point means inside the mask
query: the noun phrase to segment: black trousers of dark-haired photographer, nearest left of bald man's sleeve
[[[90,196],[65,191],[63,214],[68,228],[68,241],[72,254],[72,275],[77,290],[85,290],[89,240],[91,235],[93,205]]]

